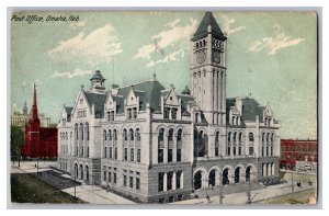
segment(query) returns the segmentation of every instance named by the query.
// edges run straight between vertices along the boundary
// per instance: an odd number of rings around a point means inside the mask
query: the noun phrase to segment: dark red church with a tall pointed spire
[[[41,127],[34,86],[32,118],[25,128],[25,145],[21,149],[26,158],[57,158],[57,128]]]

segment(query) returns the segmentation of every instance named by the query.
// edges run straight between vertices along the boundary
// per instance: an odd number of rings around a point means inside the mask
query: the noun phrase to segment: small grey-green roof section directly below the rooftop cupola
[[[90,106],[94,105],[95,118],[102,118],[104,116],[104,104],[106,100],[106,94],[84,92],[84,95]]]

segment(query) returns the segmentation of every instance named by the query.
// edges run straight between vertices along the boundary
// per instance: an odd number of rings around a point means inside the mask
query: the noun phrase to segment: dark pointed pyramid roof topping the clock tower
[[[208,26],[212,27],[212,33],[216,34],[218,36],[222,36],[224,38],[226,38],[219,27],[219,25],[217,24],[214,15],[212,12],[206,12],[196,30],[196,32],[193,35],[193,41],[194,39],[198,39],[201,37],[204,37],[207,33],[208,33]]]

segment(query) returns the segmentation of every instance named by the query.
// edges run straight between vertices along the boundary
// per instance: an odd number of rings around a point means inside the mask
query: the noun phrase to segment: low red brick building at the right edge
[[[298,162],[318,162],[318,141],[281,139],[280,169],[293,170]]]

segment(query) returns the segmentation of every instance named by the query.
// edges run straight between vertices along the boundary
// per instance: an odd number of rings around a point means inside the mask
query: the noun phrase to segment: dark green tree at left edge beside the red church
[[[24,132],[21,127],[11,126],[10,127],[10,151],[11,158],[18,157],[19,167],[20,167],[20,158],[21,158],[21,148],[25,144]]]

